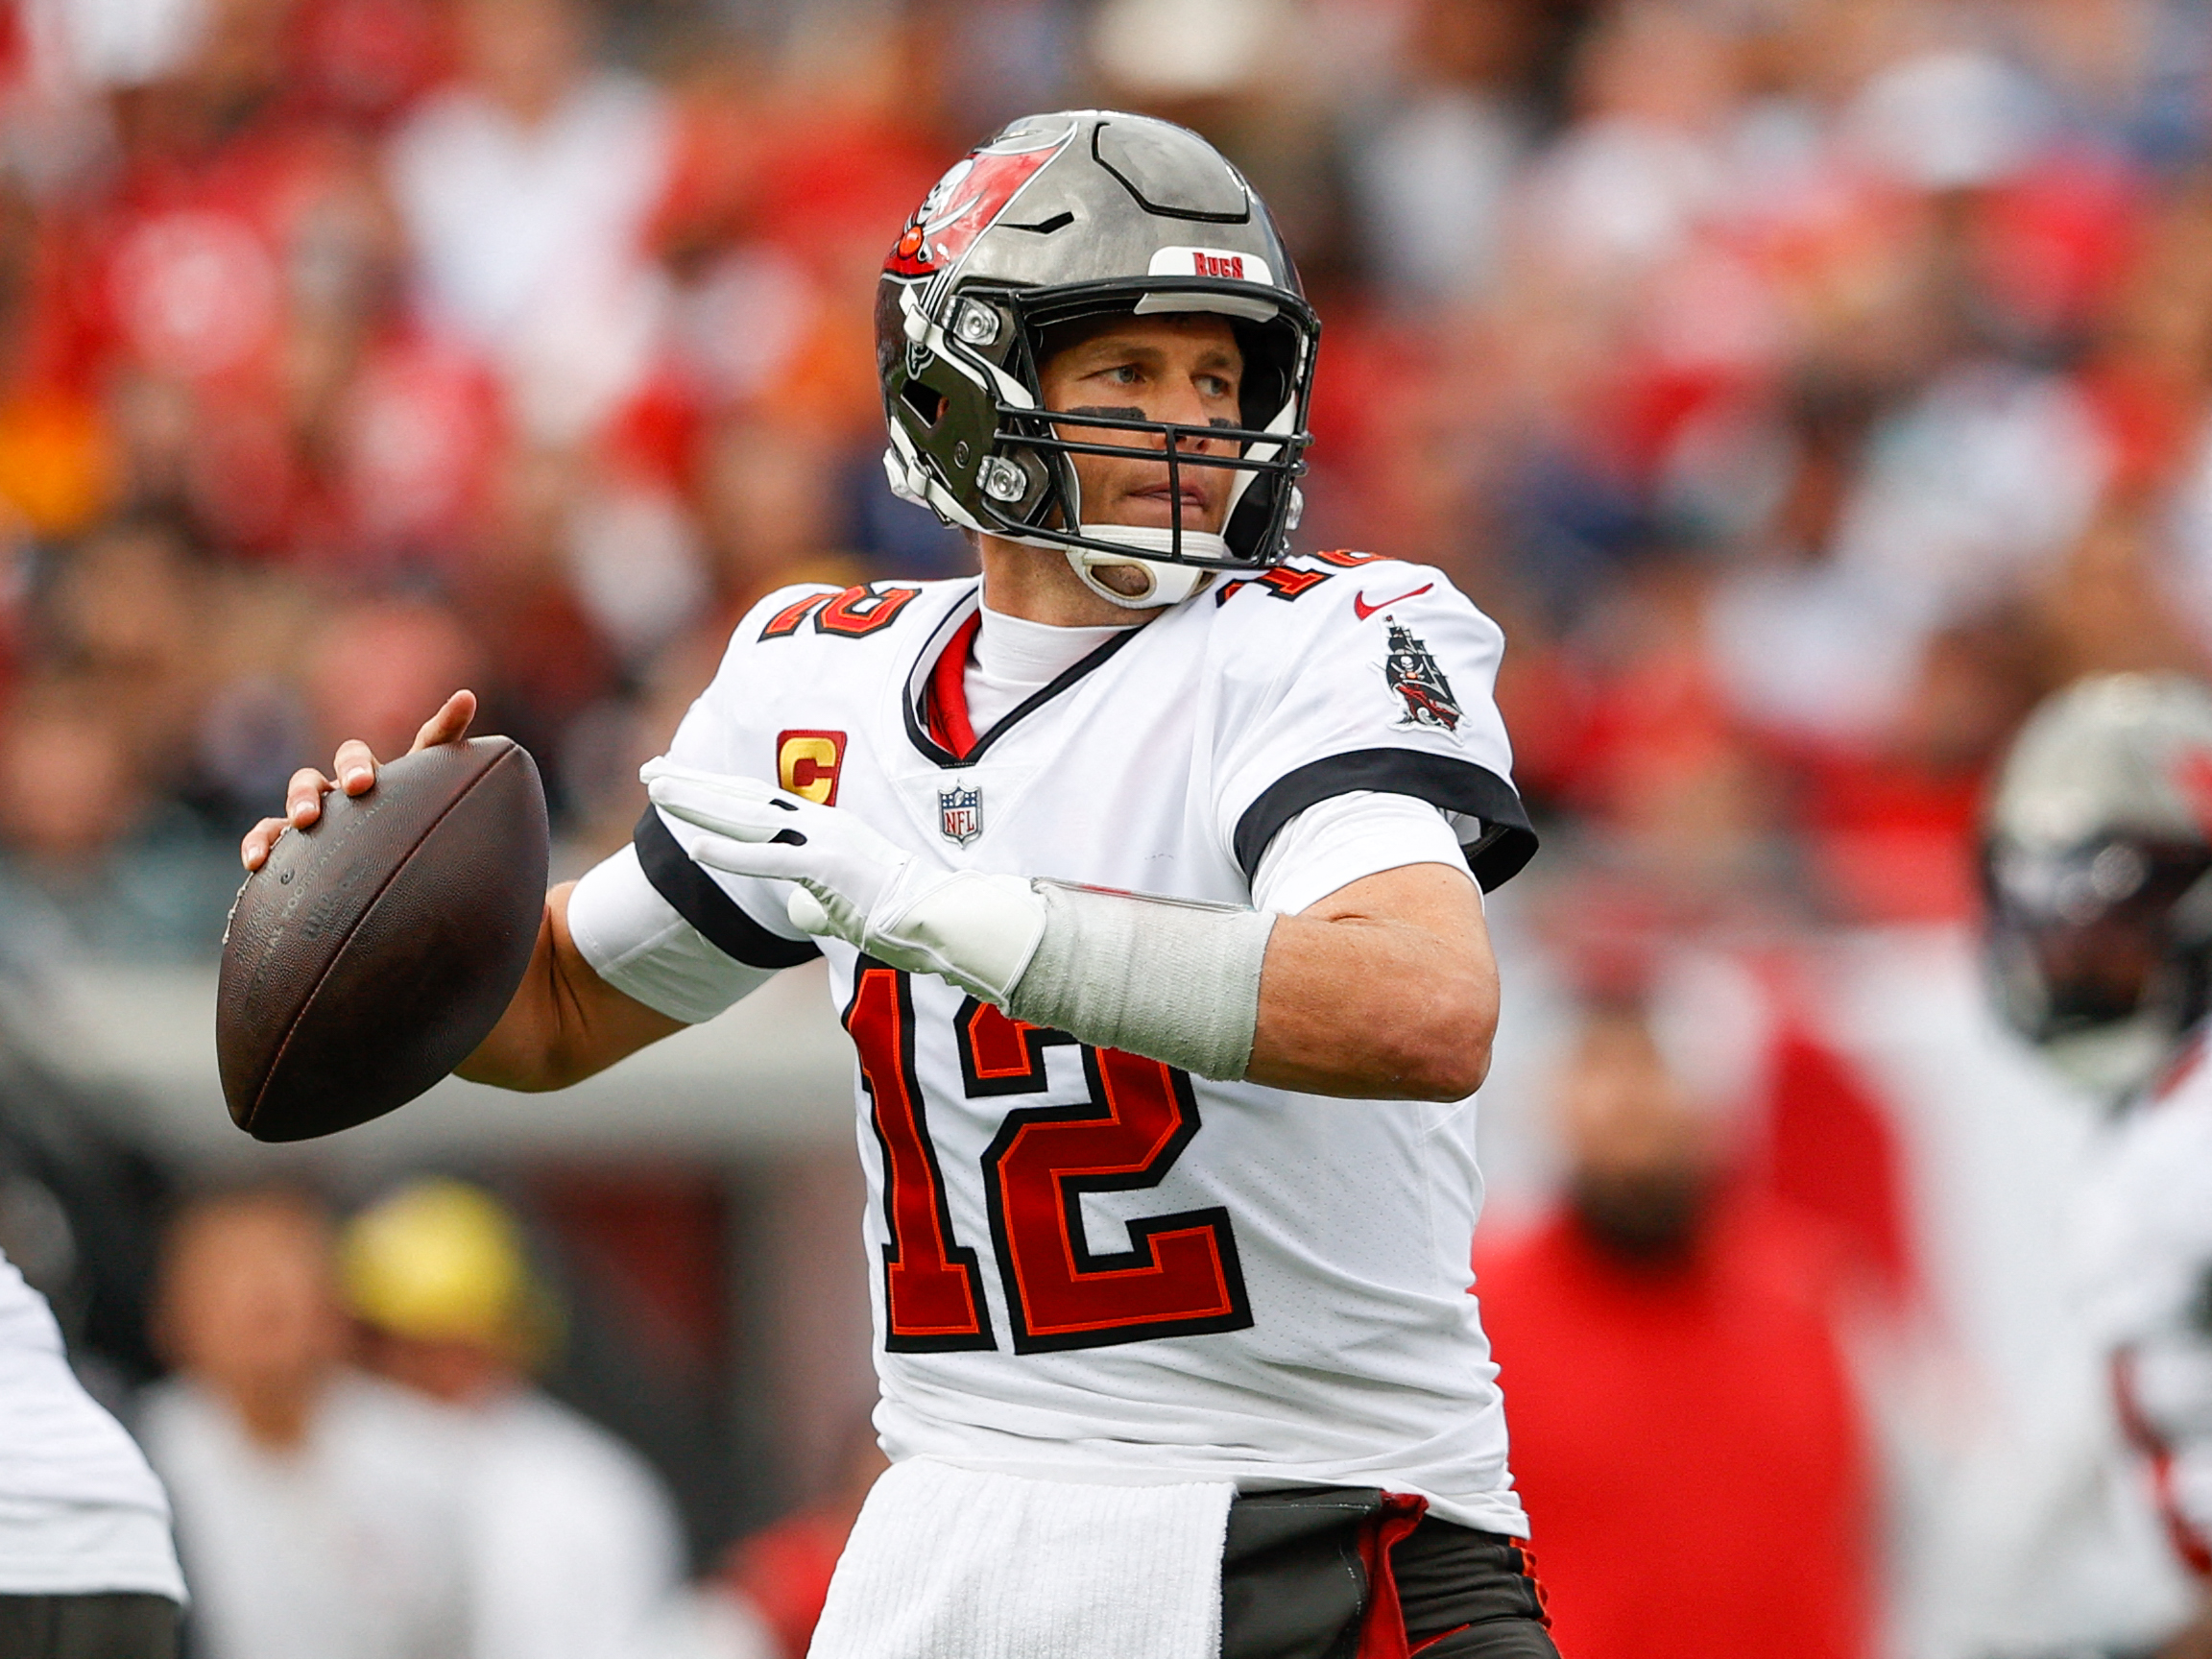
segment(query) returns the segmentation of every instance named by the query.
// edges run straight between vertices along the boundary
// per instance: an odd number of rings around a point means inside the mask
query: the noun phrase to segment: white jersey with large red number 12
[[[1447,814],[1486,887],[1535,847],[1491,699],[1500,630],[1440,571],[1332,553],[1217,582],[987,732],[962,690],[978,602],[975,580],[772,595],[672,759],[772,776],[942,869],[1219,905],[1252,902],[1285,823],[1358,792]],[[1079,1046],[816,947],[785,885],[701,869],[695,836],[648,812],[571,925],[611,982],[690,1020],[754,982],[732,958],[830,958],[891,1458],[1385,1486],[1526,1531],[1469,1294],[1473,1102],[1325,1099]],[[639,896],[666,925],[615,920]]]

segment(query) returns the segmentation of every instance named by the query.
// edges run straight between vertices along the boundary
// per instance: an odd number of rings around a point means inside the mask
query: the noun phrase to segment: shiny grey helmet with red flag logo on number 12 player
[[[1073,442],[1037,418],[1037,341],[1057,323],[1128,312],[1214,312],[1243,349],[1243,425],[1084,416],[1166,445],[1172,467],[1230,467],[1219,535],[1086,524]],[[876,367],[891,489],[971,531],[1066,549],[1075,573],[1126,606],[1175,604],[1206,571],[1283,557],[1298,522],[1305,403],[1321,325],[1290,252],[1243,175],[1197,133],[1113,111],[1013,122],[951,168],[916,208],[883,268]],[[1199,438],[1228,456],[1192,456]],[[1121,593],[1099,566],[1130,566]]]

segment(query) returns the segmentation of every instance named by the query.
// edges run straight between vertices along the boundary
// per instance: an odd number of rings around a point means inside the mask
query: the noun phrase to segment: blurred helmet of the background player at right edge
[[[2126,1095],[2212,991],[2212,695],[2099,675],[2022,728],[1982,847],[1989,967],[2011,1024]]]

